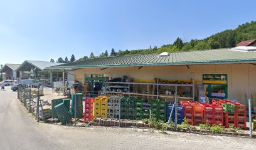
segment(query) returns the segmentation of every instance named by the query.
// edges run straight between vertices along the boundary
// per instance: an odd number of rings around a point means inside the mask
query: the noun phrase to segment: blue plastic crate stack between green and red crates
[[[181,123],[184,122],[184,107],[181,104],[178,104],[177,108],[178,108],[177,123],[181,124]],[[166,116],[167,116],[166,120],[169,119],[170,114],[171,114],[171,109],[173,109],[173,114],[171,115],[171,118],[172,118],[171,120],[173,121],[173,123],[175,123],[175,114],[176,114],[175,109],[176,109],[176,106],[174,106],[174,104],[169,103],[169,104],[166,104],[166,109],[167,109],[166,110]]]

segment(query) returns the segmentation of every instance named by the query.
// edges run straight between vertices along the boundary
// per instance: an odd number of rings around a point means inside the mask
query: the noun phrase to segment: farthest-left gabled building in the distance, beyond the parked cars
[[[19,67],[19,64],[5,64],[1,73],[5,73],[6,79],[16,79],[19,78],[19,72],[16,69]]]

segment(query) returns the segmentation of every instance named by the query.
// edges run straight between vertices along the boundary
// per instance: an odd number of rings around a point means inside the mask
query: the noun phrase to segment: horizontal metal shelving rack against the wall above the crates
[[[114,85],[108,85],[108,84],[123,84],[125,86],[114,86]],[[128,86],[127,86],[128,84]],[[142,94],[142,93],[131,93],[130,92],[130,86],[131,84],[136,84],[136,85],[149,85],[149,86],[157,86],[157,94]],[[181,97],[181,96],[169,96],[169,95],[160,95],[159,94],[159,86],[170,86],[170,87],[175,87],[176,91],[175,93],[177,93],[177,87],[191,87],[192,91],[192,97]],[[164,83],[159,83],[159,79],[157,79],[157,83],[130,83],[130,79],[128,80],[128,83],[122,83],[122,82],[106,82],[106,88],[128,88],[128,91],[125,93],[121,93],[121,92],[114,92],[114,91],[104,91],[105,93],[110,93],[110,94],[128,94],[130,95],[138,95],[138,96],[154,96],[157,99],[158,98],[180,98],[180,99],[192,99],[193,101],[195,101],[195,82],[193,81],[193,84],[164,84]]]

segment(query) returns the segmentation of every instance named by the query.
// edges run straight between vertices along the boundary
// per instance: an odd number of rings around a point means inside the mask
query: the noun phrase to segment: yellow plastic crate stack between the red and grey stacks
[[[107,118],[107,96],[94,98],[94,118]]]

